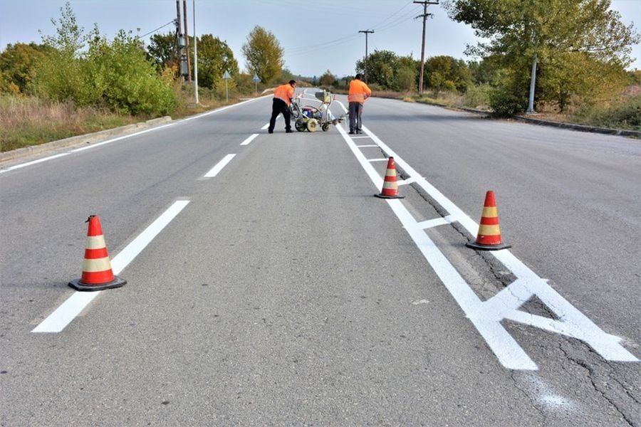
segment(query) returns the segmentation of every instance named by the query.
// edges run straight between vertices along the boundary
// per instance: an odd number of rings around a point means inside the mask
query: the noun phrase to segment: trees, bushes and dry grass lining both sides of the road
[[[450,18],[469,24],[484,43],[470,46],[476,60],[374,51],[355,63],[377,96],[486,110],[498,117],[528,107],[536,63],[536,117],[641,131],[641,70],[627,71],[630,46],[640,35],[610,0],[446,0]],[[174,33],[157,33],[144,46],[132,33],[113,40],[98,26],[85,32],[71,6],[42,43],[16,43],[0,52],[1,151],[95,132],[154,117],[185,117],[259,95],[292,78],[299,85],[346,93],[352,75],[320,77],[284,67],[276,37],[256,26],[242,46],[241,72],[226,42],[203,34],[198,43],[199,103],[190,75],[179,72]],[[189,38],[189,46],[193,46]],[[193,51],[189,51],[194,63]],[[224,73],[231,75],[223,80]],[[252,78],[258,76],[260,83]]]

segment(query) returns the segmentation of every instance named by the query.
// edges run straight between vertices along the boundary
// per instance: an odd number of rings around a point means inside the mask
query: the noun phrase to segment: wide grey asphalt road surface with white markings
[[[270,110],[0,164],[1,426],[641,426],[639,140]],[[465,246],[488,190],[506,251]],[[67,285],[90,214],[123,288]]]

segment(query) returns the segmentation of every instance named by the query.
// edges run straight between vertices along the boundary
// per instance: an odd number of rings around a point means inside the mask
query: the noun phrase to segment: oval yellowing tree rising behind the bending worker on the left
[[[264,83],[271,82],[281,74],[285,65],[284,51],[271,31],[255,26],[247,36],[242,51],[249,72],[256,73]]]

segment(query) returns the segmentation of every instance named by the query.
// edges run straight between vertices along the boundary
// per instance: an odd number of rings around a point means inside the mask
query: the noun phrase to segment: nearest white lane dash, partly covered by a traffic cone
[[[163,228],[175,218],[185,206],[189,204],[188,200],[179,200],[174,202],[167,211],[159,216],[150,226],[145,228],[137,238],[129,243],[123,251],[118,253],[111,261],[111,269],[115,275],[129,265],[129,263],[142,252],[143,249],[162,231]],[[87,305],[100,294],[100,290],[95,292],[74,292],[71,297],[62,303],[51,315],[43,320],[40,325],[36,326],[31,332],[61,332]]]

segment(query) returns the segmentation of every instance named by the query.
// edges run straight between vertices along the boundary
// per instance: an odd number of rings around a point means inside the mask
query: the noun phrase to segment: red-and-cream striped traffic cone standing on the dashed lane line
[[[105,236],[103,236],[103,228],[100,226],[100,218],[91,215],[86,222],[89,223],[89,230],[87,231],[83,275],[80,279],[69,282],[69,286],[75,290],[120,288],[120,286],[127,283],[127,280],[114,275],[111,270]]]

